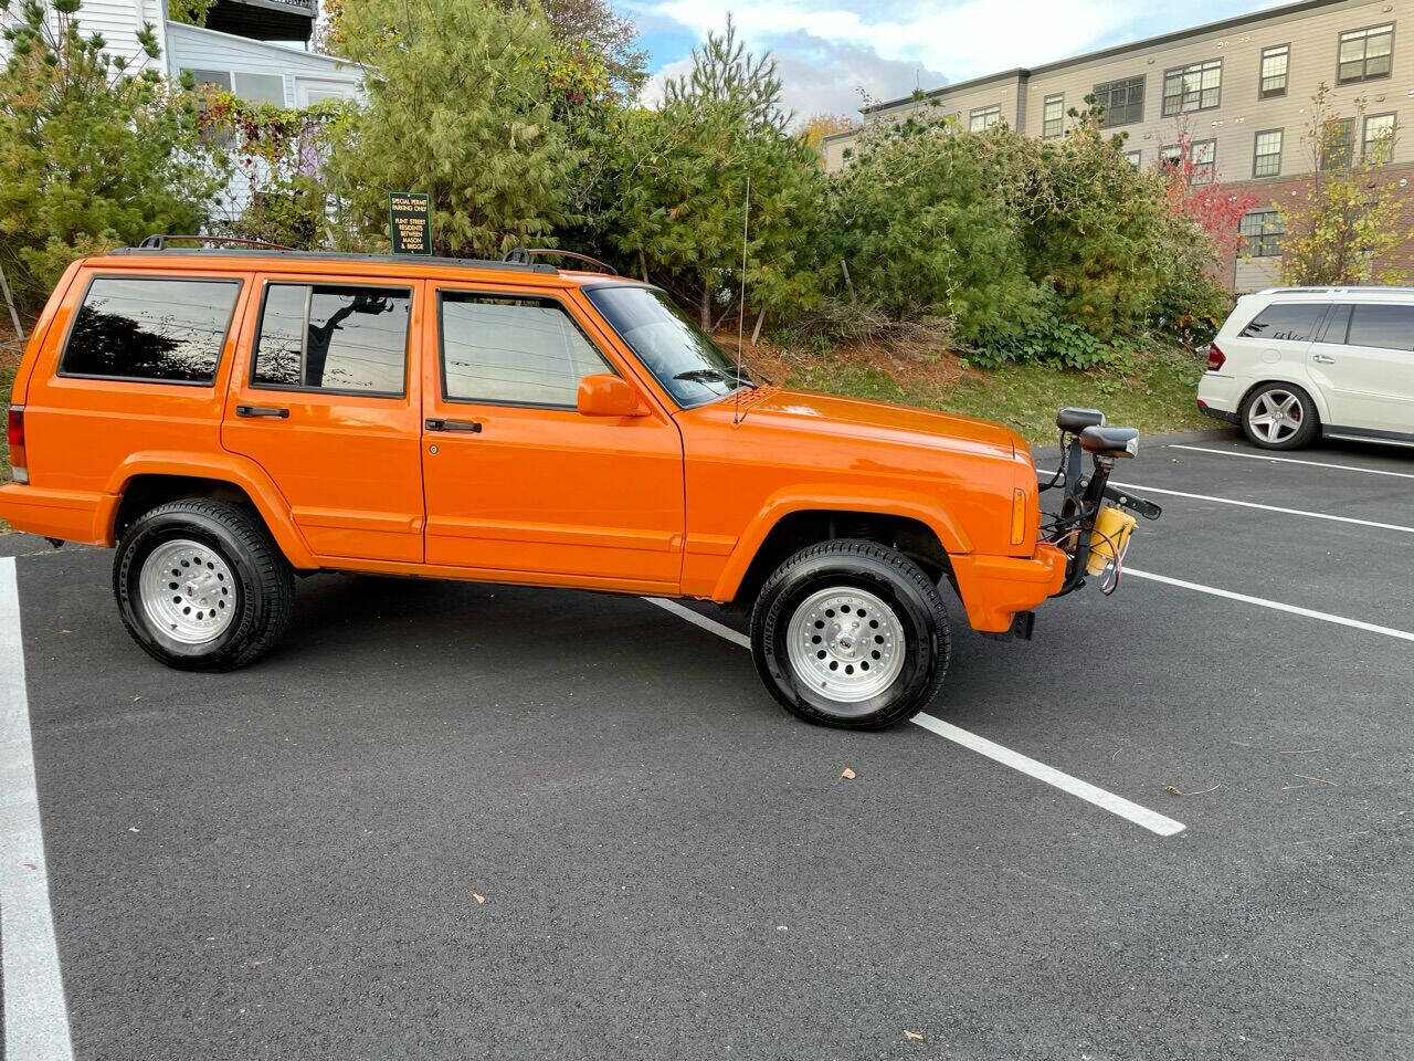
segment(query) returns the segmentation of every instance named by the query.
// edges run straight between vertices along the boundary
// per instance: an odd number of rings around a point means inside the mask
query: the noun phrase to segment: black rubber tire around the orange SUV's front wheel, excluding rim
[[[790,661],[789,638],[799,635],[790,630],[796,610],[834,587],[872,594],[902,630],[898,675],[865,700],[831,699],[806,682]],[[761,680],[788,712],[822,726],[880,730],[912,717],[937,695],[950,654],[952,634],[937,587],[916,563],[875,542],[839,539],[802,549],[766,579],[751,613],[751,655]]]

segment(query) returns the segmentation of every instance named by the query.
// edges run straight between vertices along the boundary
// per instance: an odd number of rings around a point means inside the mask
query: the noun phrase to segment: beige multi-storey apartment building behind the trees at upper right
[[[1077,55],[1032,69],[1010,69],[867,108],[867,122],[909,112],[954,115],[980,132],[1000,122],[1038,137],[1065,134],[1070,108],[1093,95],[1104,106],[1103,129],[1127,133],[1126,151],[1138,167],[1157,166],[1182,126],[1193,137],[1199,167],[1234,190],[1258,197],[1241,221],[1244,250],[1227,266],[1239,291],[1275,282],[1281,253],[1275,204],[1295,194],[1314,166],[1307,132],[1311,96],[1325,82],[1343,116],[1348,158],[1384,144],[1394,130],[1390,178],[1410,190],[1414,224],[1414,0],[1302,0],[1254,14]],[[1366,116],[1357,122],[1355,100]],[[1359,127],[1357,127],[1359,126]],[[826,168],[848,164],[858,132],[822,144]],[[1328,164],[1342,164],[1333,158]],[[1410,265],[1414,248],[1400,253]]]

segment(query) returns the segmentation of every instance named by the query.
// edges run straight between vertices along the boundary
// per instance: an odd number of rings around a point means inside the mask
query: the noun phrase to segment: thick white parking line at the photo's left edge
[[[4,1055],[72,1061],[34,784],[14,559],[0,559],[0,976]]]

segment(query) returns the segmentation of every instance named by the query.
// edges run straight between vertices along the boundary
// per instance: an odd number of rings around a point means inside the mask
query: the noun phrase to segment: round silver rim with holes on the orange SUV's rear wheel
[[[230,567],[211,547],[187,538],[163,542],[143,560],[139,593],[148,621],[184,645],[205,645],[236,615]]]

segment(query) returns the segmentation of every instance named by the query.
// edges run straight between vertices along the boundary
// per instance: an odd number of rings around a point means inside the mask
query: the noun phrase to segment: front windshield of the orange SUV
[[[735,362],[683,318],[663,291],[615,284],[587,294],[677,405],[701,405],[738,386],[755,386],[745,371],[738,378]]]

